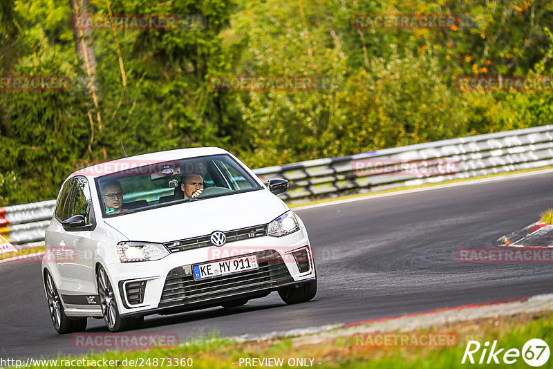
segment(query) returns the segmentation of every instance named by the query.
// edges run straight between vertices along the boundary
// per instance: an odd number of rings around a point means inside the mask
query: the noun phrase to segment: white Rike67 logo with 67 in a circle
[[[479,352],[480,348],[482,348],[482,352]],[[521,356],[529,366],[543,366],[549,360],[550,349],[547,343],[541,339],[529,339],[524,344],[522,351],[517,348],[509,348],[508,350],[499,348],[497,341],[494,341],[491,347],[489,347],[488,341],[483,346],[478,341],[469,341],[467,348],[465,348],[465,354],[462,355],[461,363],[514,364]]]

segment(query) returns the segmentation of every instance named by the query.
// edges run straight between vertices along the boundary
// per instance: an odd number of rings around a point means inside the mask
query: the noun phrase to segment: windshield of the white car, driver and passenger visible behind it
[[[129,158],[129,162],[107,164],[111,169],[119,164],[124,170],[96,178],[104,217],[262,188],[229,155],[146,165]]]

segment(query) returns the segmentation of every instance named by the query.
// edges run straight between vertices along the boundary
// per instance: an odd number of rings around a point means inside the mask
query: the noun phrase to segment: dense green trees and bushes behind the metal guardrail
[[[131,155],[222,146],[263,167],[553,122],[551,92],[464,92],[455,83],[463,75],[550,76],[550,1],[235,1],[88,0],[91,15],[107,16],[109,4],[115,15],[205,17],[174,30],[92,30],[97,108],[70,3],[1,1],[0,75],[64,75],[72,86],[0,88],[0,173],[19,184],[2,187],[0,205],[55,197],[75,167],[120,158],[119,140]],[[413,13],[473,22],[438,30],[352,24],[356,14]],[[332,83],[214,91],[211,75]]]

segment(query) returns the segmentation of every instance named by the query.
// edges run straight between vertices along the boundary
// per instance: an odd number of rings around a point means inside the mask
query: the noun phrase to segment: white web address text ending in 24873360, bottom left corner
[[[117,367],[166,367],[191,368],[194,359],[191,357],[136,357],[134,359],[1,359],[0,369],[3,368],[28,368],[28,367],[54,367],[54,368],[117,368]]]

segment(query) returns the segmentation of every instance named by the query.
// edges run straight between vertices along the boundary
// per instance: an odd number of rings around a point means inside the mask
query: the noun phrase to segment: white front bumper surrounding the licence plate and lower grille
[[[192,266],[256,254],[259,269],[195,281]],[[234,299],[263,297],[285,286],[316,278],[305,229],[279,238],[264,236],[175,252],[159,261],[114,263],[106,268],[115,287],[121,316],[171,314],[221,305]]]

